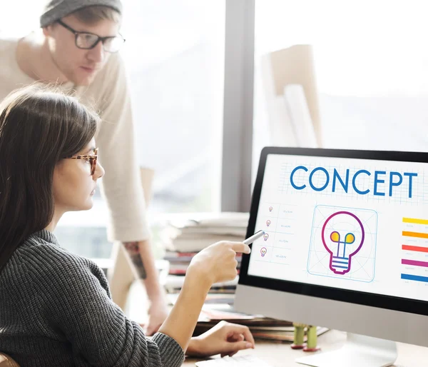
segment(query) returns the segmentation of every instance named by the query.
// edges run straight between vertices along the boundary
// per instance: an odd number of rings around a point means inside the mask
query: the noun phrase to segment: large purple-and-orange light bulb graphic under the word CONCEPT
[[[341,275],[349,273],[352,256],[364,243],[365,230],[360,218],[349,211],[337,211],[322,226],[321,238],[330,253],[330,270]]]

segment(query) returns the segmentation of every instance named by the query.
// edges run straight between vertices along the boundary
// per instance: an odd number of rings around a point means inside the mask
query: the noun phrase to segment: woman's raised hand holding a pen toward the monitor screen
[[[193,256],[186,272],[186,278],[196,276],[208,287],[213,283],[233,280],[238,274],[236,253],[250,253],[250,251],[250,246],[242,242],[220,241],[214,243]]]

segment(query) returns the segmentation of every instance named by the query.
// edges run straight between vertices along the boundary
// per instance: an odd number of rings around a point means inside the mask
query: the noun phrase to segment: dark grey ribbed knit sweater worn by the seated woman
[[[95,263],[30,236],[0,273],[0,351],[21,366],[181,366],[169,336],[149,340],[111,300]]]

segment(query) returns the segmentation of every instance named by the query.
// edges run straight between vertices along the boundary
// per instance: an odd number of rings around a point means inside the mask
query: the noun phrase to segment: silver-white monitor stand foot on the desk
[[[296,362],[315,367],[386,367],[396,359],[394,341],[348,333],[345,345],[339,350],[297,358]]]

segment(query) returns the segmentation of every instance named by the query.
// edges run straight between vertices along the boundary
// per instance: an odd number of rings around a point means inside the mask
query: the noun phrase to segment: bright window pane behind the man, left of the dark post
[[[165,212],[217,211],[225,1],[122,2],[121,53],[131,81],[138,161],[155,171],[149,219]],[[11,2],[0,14],[1,34],[24,36],[37,29],[34,14],[41,14],[43,4]],[[107,258],[106,204],[99,193],[95,201],[91,211],[66,213],[56,236],[75,253]]]

